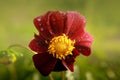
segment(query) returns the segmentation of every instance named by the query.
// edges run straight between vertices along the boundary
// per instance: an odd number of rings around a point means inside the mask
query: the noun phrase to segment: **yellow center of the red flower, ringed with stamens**
[[[48,52],[53,57],[65,59],[66,56],[72,55],[72,50],[75,48],[74,43],[75,41],[70,40],[65,34],[54,37],[50,41]]]

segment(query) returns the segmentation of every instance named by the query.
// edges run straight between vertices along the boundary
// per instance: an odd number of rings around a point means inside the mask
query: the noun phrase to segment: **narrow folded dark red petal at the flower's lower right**
[[[65,60],[62,60],[63,65],[72,72],[74,71],[74,62],[77,56],[79,56],[79,52],[76,49],[74,49],[73,55],[69,55],[65,58]]]

